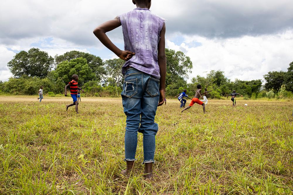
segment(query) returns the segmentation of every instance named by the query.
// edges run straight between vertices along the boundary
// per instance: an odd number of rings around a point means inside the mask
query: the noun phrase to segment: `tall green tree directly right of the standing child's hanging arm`
[[[182,51],[165,49],[167,60],[166,86],[188,78],[191,73],[192,62]]]

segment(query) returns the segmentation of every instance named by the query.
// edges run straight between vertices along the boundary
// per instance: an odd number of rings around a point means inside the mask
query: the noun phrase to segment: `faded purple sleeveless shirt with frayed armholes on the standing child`
[[[165,20],[146,8],[136,8],[118,18],[122,25],[124,49],[135,53],[122,66],[122,74],[125,75],[129,65],[160,79],[158,43]]]

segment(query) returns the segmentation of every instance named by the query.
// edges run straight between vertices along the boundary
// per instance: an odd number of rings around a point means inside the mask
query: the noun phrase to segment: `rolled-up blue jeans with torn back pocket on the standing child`
[[[144,163],[154,163],[155,135],[158,124],[154,122],[160,98],[159,80],[135,68],[125,73],[122,105],[126,115],[125,159],[135,161],[137,132],[143,134]]]

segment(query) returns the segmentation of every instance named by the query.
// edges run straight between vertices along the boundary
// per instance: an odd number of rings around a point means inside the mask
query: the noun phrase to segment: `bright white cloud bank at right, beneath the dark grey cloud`
[[[192,46],[194,42],[202,45]],[[231,80],[263,79],[269,71],[287,71],[293,61],[293,31],[229,39],[185,35],[182,44],[176,45],[167,40],[167,47],[186,51],[185,54],[193,62],[189,80],[196,75],[205,76],[210,70],[222,70]]]

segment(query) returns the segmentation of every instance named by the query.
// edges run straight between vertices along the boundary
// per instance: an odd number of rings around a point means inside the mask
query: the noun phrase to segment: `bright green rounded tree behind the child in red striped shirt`
[[[78,75],[79,84],[82,85],[90,80],[95,80],[96,75],[86,63],[85,58],[76,58],[69,61],[63,61],[57,65],[56,70],[52,71],[52,75],[61,78],[63,82],[68,83],[72,79],[72,75]]]

